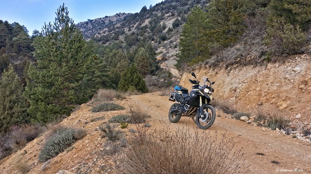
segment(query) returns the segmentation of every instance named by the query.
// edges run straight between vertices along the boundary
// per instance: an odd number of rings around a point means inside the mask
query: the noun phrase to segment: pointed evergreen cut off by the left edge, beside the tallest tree
[[[29,121],[23,86],[10,64],[0,80],[0,132],[6,132],[11,125],[20,125]]]

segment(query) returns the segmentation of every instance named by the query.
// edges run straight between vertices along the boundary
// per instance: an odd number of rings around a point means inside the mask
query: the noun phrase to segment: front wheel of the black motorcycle
[[[205,105],[203,113],[202,117],[199,112],[196,114],[195,123],[200,129],[208,129],[213,125],[216,119],[216,112],[211,105]]]

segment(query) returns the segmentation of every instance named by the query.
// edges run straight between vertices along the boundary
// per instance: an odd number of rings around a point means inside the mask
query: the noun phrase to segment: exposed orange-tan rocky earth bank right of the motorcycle
[[[295,55],[284,63],[212,68],[205,65],[185,72],[180,84],[191,89],[194,72],[200,81],[215,81],[214,98],[228,99],[241,111],[273,107],[295,123],[311,122],[311,56]],[[204,77],[204,79],[203,79]],[[258,103],[262,103],[261,106]],[[297,114],[306,115],[295,119]]]

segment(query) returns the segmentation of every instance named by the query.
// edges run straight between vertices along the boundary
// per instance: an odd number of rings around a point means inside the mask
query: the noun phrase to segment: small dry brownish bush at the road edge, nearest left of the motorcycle
[[[150,118],[151,116],[148,115],[149,109],[146,105],[141,103],[132,103],[129,104],[130,112],[129,115],[132,119],[131,123],[145,123],[146,118]]]

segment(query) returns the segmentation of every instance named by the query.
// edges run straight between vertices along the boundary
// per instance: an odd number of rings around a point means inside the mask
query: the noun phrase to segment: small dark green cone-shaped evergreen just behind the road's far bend
[[[146,83],[141,74],[139,74],[138,69],[134,63],[127,67],[122,73],[118,89],[126,92],[133,87],[139,92],[148,93]]]

